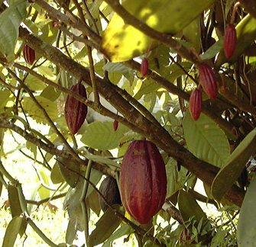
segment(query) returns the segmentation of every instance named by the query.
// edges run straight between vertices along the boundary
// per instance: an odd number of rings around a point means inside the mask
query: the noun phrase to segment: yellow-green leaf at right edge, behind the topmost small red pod
[[[237,44],[235,52],[230,59],[227,59],[224,53],[224,49],[219,53],[218,59],[215,63],[215,68],[219,68],[223,63],[235,63],[238,58],[251,47],[251,44],[256,39],[256,19],[250,14],[247,14],[238,25],[235,27]]]

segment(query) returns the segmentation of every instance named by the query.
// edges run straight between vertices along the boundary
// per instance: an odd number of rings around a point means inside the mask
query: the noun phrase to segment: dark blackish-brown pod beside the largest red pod
[[[102,181],[102,184],[100,184],[99,191],[105,197],[109,205],[122,204],[120,192],[118,189],[118,184],[115,178],[112,178],[111,176],[105,178]],[[102,199],[100,195],[99,195],[99,204],[103,212],[105,212],[105,210],[109,208],[109,206],[105,204],[105,201]]]

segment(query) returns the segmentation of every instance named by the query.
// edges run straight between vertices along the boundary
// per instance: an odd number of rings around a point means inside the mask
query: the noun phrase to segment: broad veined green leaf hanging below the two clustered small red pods
[[[190,111],[183,119],[183,130],[190,152],[199,159],[222,167],[228,159],[230,148],[225,133],[205,114],[193,120]]]

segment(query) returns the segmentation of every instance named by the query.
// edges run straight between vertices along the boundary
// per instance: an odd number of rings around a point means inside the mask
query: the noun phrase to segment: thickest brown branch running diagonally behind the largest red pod
[[[33,34],[29,34],[28,30],[25,30],[24,28],[20,28],[20,37],[28,43],[31,48],[36,50],[38,53],[41,53],[47,59],[50,59],[51,62],[70,72],[78,79],[83,77],[86,84],[90,86],[92,85],[89,70],[73,61],[73,59],[65,56],[60,52],[60,50],[51,47],[49,44],[40,40],[38,37],[35,37]],[[96,79],[99,93],[107,101],[111,102],[111,104],[125,117],[126,120],[128,120],[128,122],[132,123],[134,126],[140,127],[144,132],[144,136],[148,140],[151,140],[161,149],[164,149],[165,152],[169,153],[170,156],[173,156],[174,159],[177,159],[185,168],[195,174],[196,177],[211,186],[219,168],[197,159],[187,149],[173,140],[167,130],[161,127],[160,124],[156,125],[147,120],[147,118],[141,115],[140,112],[137,111],[128,101],[125,101],[122,95],[115,90],[115,85],[112,85],[111,82],[100,79],[99,77]],[[134,129],[131,128],[131,130]],[[241,206],[243,194],[237,188],[232,188],[232,190],[228,191],[226,197],[234,204]]]

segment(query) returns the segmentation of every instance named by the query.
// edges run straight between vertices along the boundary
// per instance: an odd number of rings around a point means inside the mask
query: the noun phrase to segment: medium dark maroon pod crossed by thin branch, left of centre
[[[78,93],[84,98],[87,98],[86,88],[81,83],[73,85],[70,90]],[[87,111],[88,107],[86,104],[83,104],[76,98],[67,95],[65,104],[66,124],[73,135],[76,134],[80,127],[83,125],[83,122],[86,119]]]

